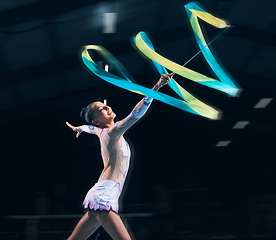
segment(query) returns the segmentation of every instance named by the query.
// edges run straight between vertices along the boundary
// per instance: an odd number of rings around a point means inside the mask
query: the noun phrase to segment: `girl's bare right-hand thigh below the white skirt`
[[[116,213],[99,212],[95,213],[98,222],[114,240],[131,240],[122,219]]]

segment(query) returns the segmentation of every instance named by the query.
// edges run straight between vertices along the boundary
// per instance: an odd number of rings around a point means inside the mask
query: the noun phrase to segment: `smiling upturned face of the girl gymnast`
[[[112,108],[106,106],[102,102],[94,102],[91,105],[91,109],[94,115],[94,122],[97,125],[112,124],[116,114],[112,111]]]

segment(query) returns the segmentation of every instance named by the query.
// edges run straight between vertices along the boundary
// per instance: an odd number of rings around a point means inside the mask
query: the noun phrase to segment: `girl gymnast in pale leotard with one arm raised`
[[[170,81],[172,74],[162,75],[152,89],[158,91]],[[126,118],[118,122],[114,122],[116,114],[111,107],[102,102],[93,102],[81,111],[81,116],[92,125],[74,127],[66,122],[68,127],[77,132],[76,137],[82,132],[99,137],[104,165],[98,182],[84,199],[83,209],[86,213],[68,240],[87,239],[100,226],[103,226],[113,239],[131,239],[118,215],[118,199],[130,160],[129,145],[123,134],[145,114],[151,102],[152,98],[144,97]]]

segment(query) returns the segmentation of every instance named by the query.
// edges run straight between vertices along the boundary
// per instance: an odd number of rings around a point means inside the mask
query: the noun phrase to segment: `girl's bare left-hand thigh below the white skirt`
[[[100,223],[96,216],[90,212],[86,212],[78,222],[68,240],[86,240],[99,228],[99,226]]]

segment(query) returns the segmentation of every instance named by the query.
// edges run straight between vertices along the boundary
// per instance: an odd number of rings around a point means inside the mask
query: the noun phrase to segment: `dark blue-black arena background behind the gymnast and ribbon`
[[[222,119],[154,101],[126,134],[133,154],[120,216],[138,240],[275,240],[276,2],[199,2],[231,23],[210,47],[243,90],[228,97],[175,75]],[[70,235],[103,164],[97,137],[76,139],[65,122],[85,124],[82,107],[104,99],[120,120],[142,98],[90,72],[82,46],[104,46],[152,87],[160,75],[131,39],[146,31],[161,55],[185,63],[199,50],[187,3],[0,1],[1,240]],[[208,41],[222,31],[200,24]],[[187,67],[214,77],[202,54]],[[100,228],[89,239],[110,237]]]

